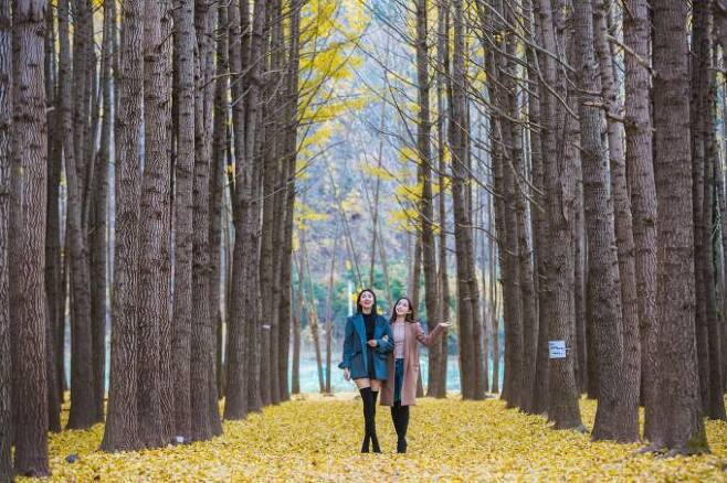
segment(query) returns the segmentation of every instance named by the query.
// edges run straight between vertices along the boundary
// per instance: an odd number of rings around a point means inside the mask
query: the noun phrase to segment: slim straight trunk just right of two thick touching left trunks
[[[191,439],[192,331],[192,171],[194,169],[194,0],[175,6],[177,66],[177,158],[175,159],[175,302],[172,356],[175,364],[175,429]]]

